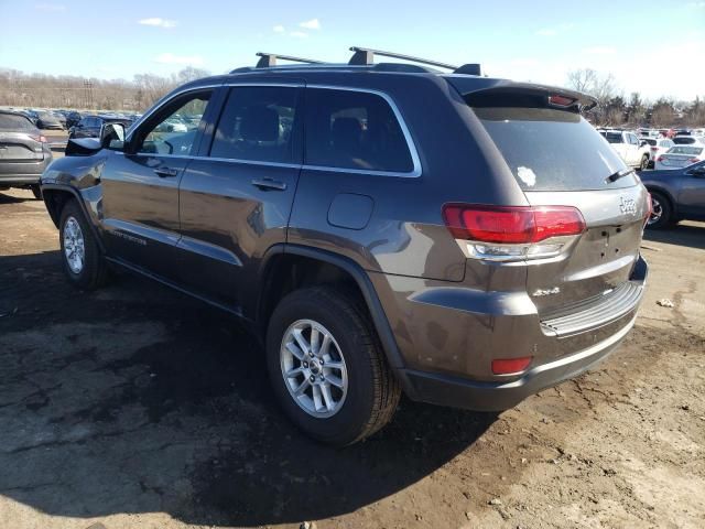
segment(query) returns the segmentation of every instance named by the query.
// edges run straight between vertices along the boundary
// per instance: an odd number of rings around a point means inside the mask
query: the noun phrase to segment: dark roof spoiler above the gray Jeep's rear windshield
[[[471,107],[555,108],[579,112],[597,105],[593,96],[556,86],[454,75],[445,78]]]

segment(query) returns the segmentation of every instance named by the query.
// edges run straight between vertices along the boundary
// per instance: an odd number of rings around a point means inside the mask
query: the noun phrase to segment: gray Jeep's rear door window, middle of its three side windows
[[[210,147],[210,156],[293,163],[300,89],[243,86],[230,89]]]

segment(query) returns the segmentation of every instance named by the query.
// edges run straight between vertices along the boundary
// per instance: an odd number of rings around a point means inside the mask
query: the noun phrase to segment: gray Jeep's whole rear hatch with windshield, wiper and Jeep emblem
[[[577,112],[581,95],[560,93],[555,100],[568,105],[560,108],[546,87],[487,91],[464,97],[529,204],[577,208],[585,220],[579,235],[542,242],[560,242],[560,253],[525,259],[529,295],[542,317],[599,302],[629,280],[638,260],[644,187]]]

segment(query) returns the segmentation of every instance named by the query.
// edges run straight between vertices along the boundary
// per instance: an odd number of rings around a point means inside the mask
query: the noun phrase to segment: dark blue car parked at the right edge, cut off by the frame
[[[641,173],[641,181],[651,193],[648,228],[661,229],[679,220],[705,220],[705,161]]]

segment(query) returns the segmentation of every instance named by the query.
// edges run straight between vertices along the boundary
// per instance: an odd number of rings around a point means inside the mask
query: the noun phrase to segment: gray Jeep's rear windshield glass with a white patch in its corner
[[[633,174],[607,181],[627,165],[577,114],[549,108],[474,110],[524,191],[603,190],[637,183]]]

